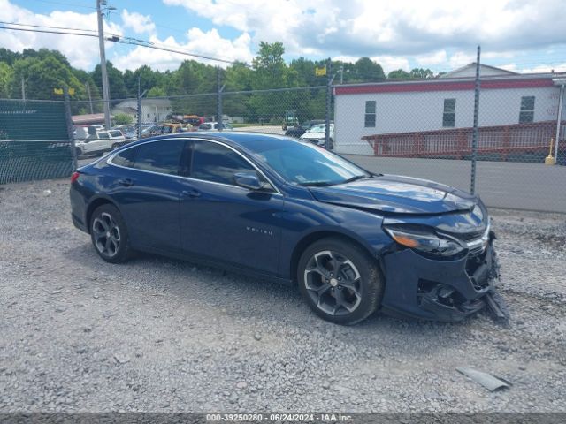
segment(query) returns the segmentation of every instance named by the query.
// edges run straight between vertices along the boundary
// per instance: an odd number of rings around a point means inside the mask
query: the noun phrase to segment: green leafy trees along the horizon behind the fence
[[[236,116],[256,120],[262,117],[280,116],[285,108],[296,110],[303,118],[324,114],[325,90],[305,90],[286,93],[264,93],[262,95],[229,94],[249,90],[267,90],[284,87],[324,86],[325,77],[317,77],[315,68],[325,66],[325,61],[313,61],[299,57],[286,63],[285,48],[281,42],[260,42],[259,50],[250,66],[232,64],[222,69],[222,84],[226,84],[224,110]],[[428,69],[413,69],[410,72],[397,70],[383,71],[380,64],[369,57],[361,57],[356,63],[332,62],[333,73],[344,84],[379,82],[387,79],[428,79],[434,74]],[[120,71],[107,62],[108,79],[112,101],[133,98],[147,90],[146,97],[193,95],[172,98],[173,110],[200,115],[215,113],[217,90],[217,67],[195,60],[183,61],[174,71],[154,71],[148,65],[135,71]],[[102,75],[100,64],[87,72],[71,66],[57,50],[25,49],[13,52],[0,49],[0,98],[61,100],[54,88],[73,88],[72,100],[93,101],[102,98]],[[102,110],[101,102],[94,102],[94,111]],[[73,113],[88,113],[88,102],[74,102]]]

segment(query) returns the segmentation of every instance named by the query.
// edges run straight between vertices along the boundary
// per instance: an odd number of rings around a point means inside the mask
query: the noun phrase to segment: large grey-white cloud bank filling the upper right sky
[[[310,49],[353,57],[424,56],[439,48],[473,54],[478,43],[496,51],[566,41],[566,26],[555,24],[566,19],[562,0],[163,1],[249,32],[254,43],[282,41],[291,55]]]

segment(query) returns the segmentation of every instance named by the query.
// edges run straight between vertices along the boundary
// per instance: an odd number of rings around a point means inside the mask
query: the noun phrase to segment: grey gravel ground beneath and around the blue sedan
[[[566,412],[566,217],[492,213],[509,326],[340,327],[268,281],[107,264],[66,180],[0,186],[0,412]],[[490,393],[459,366],[514,385]]]

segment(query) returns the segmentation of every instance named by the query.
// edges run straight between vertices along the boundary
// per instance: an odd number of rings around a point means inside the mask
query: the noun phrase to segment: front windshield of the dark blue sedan
[[[245,147],[288,182],[299,186],[334,186],[371,174],[339,155],[292,140],[249,140]]]

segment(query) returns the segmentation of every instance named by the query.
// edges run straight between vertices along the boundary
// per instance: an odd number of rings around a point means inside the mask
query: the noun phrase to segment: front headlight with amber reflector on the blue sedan
[[[387,226],[383,229],[400,245],[424,254],[454,256],[466,249],[458,240],[440,236],[432,229],[402,226]]]

